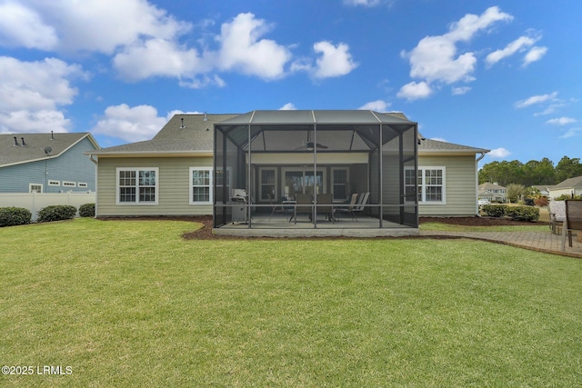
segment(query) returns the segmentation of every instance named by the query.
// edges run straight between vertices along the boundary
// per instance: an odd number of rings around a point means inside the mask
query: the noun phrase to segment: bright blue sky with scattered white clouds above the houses
[[[582,2],[0,0],[0,133],[176,113],[399,111],[481,164],[582,157]]]

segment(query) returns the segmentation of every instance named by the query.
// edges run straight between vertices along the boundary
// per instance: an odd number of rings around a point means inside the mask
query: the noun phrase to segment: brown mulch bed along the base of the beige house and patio
[[[268,237],[238,237],[238,236],[226,236],[226,235],[216,235],[212,234],[212,216],[211,215],[200,215],[200,216],[165,216],[165,217],[135,217],[135,218],[104,218],[104,220],[128,220],[128,219],[139,219],[139,220],[174,220],[174,221],[187,221],[192,223],[199,223],[203,226],[194,231],[183,234],[186,240],[250,240],[250,239],[266,239]],[[504,226],[504,225],[533,225],[537,223],[529,223],[523,221],[512,221],[507,218],[496,218],[496,217],[420,217],[418,219],[420,224],[424,223],[441,223],[441,224],[454,224],[463,226]],[[416,237],[418,236],[410,236]],[[406,237],[406,238],[410,238]],[[278,238],[278,237],[273,237]],[[295,239],[329,239],[330,237],[294,237]],[[337,238],[354,238],[354,237],[334,237]],[[391,237],[376,237],[376,238],[391,238]],[[399,237],[402,238],[402,237]],[[434,237],[433,237],[434,238]]]

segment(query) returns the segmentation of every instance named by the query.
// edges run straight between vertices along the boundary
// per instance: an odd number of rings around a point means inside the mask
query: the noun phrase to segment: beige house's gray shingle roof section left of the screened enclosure
[[[97,156],[143,156],[144,154],[213,153],[214,124],[238,114],[176,114],[152,140],[102,148],[85,154]]]

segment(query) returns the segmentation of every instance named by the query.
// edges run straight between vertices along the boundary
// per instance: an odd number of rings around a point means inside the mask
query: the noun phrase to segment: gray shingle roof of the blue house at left
[[[88,132],[0,134],[0,167],[58,157],[85,138],[88,138],[95,148],[99,148],[93,135]]]

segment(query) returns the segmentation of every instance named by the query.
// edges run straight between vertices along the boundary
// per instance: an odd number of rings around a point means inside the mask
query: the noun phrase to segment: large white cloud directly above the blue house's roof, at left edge
[[[60,106],[73,104],[77,90],[69,79],[84,78],[79,65],[60,59],[23,62],[0,56],[0,131],[66,132]]]

